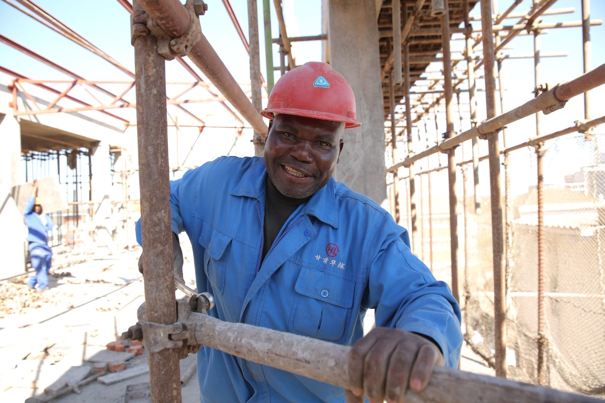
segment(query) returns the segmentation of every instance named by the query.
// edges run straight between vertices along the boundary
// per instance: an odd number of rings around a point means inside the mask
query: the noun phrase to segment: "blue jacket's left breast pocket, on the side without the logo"
[[[225,271],[232,238],[220,231],[210,228],[202,231],[198,240],[204,247],[204,272],[215,292],[223,293]]]

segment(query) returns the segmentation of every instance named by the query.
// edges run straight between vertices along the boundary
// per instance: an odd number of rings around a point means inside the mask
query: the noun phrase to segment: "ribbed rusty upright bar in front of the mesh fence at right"
[[[543,159],[544,145],[540,143],[535,148],[538,167],[538,383],[546,384],[548,339],[546,338],[546,312],[545,312],[545,252],[546,239],[544,232],[544,174]]]

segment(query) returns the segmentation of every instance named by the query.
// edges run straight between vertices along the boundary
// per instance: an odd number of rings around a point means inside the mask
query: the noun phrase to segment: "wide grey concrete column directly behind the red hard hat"
[[[387,185],[376,4],[330,0],[328,21],[330,65],[353,88],[357,120],[363,123],[345,130],[335,176],[354,191],[383,203]]]

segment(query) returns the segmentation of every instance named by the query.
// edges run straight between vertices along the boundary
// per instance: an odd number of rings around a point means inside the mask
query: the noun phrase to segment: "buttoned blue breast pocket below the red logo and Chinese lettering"
[[[295,290],[290,330],[341,342],[351,321],[355,281],[302,267]]]

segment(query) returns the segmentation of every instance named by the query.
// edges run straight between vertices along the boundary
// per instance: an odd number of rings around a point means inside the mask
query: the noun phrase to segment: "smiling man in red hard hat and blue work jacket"
[[[353,346],[349,375],[363,388],[203,347],[200,400],[391,402],[423,390],[435,365],[458,364],[460,310],[411,253],[407,231],[332,177],[345,128],[361,125],[350,85],[310,62],[278,80],[261,114],[271,119],[263,158],[221,157],[171,182],[175,274],[185,231],[197,290],[216,301],[210,315]],[[362,337],[368,309],[376,329]]]

